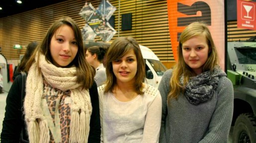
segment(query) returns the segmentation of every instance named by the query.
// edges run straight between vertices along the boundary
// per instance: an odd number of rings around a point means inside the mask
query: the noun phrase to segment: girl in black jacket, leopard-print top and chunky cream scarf
[[[56,20],[28,59],[24,104],[21,74],[6,98],[1,143],[99,143],[99,97],[95,70],[85,59],[82,34],[70,17]],[[22,127],[22,108],[26,127]]]

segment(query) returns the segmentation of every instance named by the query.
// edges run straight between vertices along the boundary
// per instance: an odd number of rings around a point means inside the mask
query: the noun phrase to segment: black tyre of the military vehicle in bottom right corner
[[[238,116],[233,130],[233,143],[256,143],[256,117],[253,114]]]

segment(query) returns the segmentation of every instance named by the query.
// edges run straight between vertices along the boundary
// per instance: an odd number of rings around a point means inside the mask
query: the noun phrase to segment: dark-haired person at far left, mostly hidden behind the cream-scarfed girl
[[[28,45],[27,45],[27,48],[26,48],[26,52],[23,56],[23,58],[21,59],[21,62],[20,64],[15,67],[15,70],[14,70],[14,73],[13,73],[13,76],[12,76],[12,79],[14,81],[15,77],[21,72],[21,71],[24,71],[25,67],[26,67],[26,64],[27,64],[27,61],[28,59],[31,57],[32,53],[34,52],[36,46],[38,45],[37,42],[33,41],[33,42],[30,42]]]

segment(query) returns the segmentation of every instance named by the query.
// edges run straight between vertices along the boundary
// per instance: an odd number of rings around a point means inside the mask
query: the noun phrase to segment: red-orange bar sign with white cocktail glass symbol
[[[237,0],[238,28],[256,30],[256,2]]]

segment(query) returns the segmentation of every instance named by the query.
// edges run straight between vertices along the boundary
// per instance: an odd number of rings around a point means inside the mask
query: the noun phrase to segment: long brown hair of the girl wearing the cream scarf
[[[31,65],[35,62],[35,56],[37,54],[43,54],[45,56],[45,60],[49,63],[53,63],[53,59],[51,57],[50,53],[50,42],[52,36],[56,33],[56,31],[63,25],[70,26],[74,31],[74,36],[78,45],[78,52],[75,57],[75,59],[67,66],[75,66],[77,68],[77,83],[80,83],[83,88],[90,88],[94,81],[94,75],[95,71],[94,69],[89,65],[89,63],[85,59],[85,52],[83,48],[83,39],[82,39],[82,33],[77,25],[77,23],[70,17],[62,17],[58,20],[56,20],[48,29],[47,33],[43,37],[43,40],[41,43],[37,46],[35,51],[33,52],[32,56],[29,58],[27,62],[27,66],[25,68],[25,71],[28,72]],[[38,59],[39,60],[39,56]],[[38,66],[39,67],[39,66]],[[40,70],[38,69],[40,72]]]

